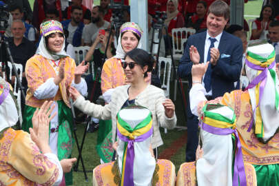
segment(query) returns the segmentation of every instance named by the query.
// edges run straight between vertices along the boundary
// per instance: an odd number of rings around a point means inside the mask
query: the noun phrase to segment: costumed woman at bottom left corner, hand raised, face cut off
[[[36,112],[30,134],[12,129],[19,119],[17,107],[10,85],[0,77],[0,185],[61,183],[61,164],[48,145],[49,107],[44,104]]]

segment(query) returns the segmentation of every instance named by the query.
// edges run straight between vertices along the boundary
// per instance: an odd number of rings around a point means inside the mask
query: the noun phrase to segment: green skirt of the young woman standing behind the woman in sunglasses
[[[99,121],[96,150],[103,162],[112,161],[114,153],[114,149],[112,149],[112,120]]]

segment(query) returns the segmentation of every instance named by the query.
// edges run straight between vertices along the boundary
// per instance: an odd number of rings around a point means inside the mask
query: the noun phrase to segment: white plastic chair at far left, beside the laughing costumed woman
[[[17,72],[19,72],[19,81],[22,82],[23,67],[19,63],[14,63],[14,66],[15,66]],[[10,68],[9,76],[10,76],[10,79],[12,79],[12,63],[10,63],[10,61],[8,61],[8,67]],[[4,78],[5,78],[5,75],[4,75]],[[19,106],[19,122],[22,124],[23,118],[22,118],[22,112],[21,112],[21,90],[19,89],[19,87],[17,87],[18,83],[19,82],[17,82],[17,79],[15,79],[14,90],[12,93],[17,98],[17,105]]]

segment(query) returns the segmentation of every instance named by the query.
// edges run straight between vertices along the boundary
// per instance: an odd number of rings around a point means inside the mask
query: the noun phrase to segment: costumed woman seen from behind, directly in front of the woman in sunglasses
[[[93,170],[93,185],[174,185],[175,167],[156,160],[152,151],[152,112],[139,105],[124,107],[117,114],[115,143],[118,158]]]

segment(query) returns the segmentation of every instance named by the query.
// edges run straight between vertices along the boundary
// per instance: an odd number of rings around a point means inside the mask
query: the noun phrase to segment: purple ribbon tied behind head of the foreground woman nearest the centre
[[[127,138],[127,136],[123,136],[119,130],[117,129],[117,136],[122,141],[127,142],[127,154],[126,154],[126,163],[125,163],[125,172],[124,172],[124,183],[123,185],[134,186],[134,142],[145,141],[145,139],[152,136],[153,126],[150,128],[148,132],[138,136],[136,139]],[[123,157],[124,158],[124,157]],[[123,174],[123,172],[122,172]]]

